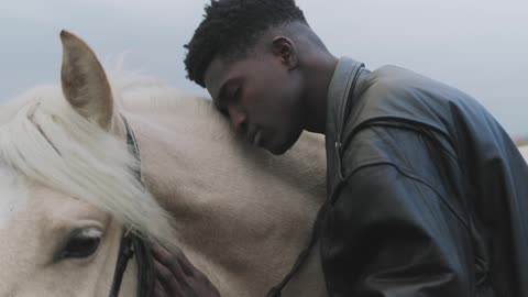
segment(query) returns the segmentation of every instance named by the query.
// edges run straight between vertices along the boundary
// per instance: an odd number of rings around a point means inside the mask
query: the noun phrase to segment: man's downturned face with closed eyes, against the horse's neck
[[[283,154],[304,130],[300,75],[273,53],[216,57],[205,82],[216,106],[254,145]]]

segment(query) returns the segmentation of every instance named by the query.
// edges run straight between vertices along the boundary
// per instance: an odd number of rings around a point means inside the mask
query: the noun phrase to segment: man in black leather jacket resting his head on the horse
[[[528,167],[475,100],[334,57],[294,0],[211,1],[187,48],[189,79],[256,146],[326,135],[330,296],[528,296]]]

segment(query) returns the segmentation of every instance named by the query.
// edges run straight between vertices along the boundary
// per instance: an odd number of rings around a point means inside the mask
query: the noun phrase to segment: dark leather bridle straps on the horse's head
[[[138,147],[134,132],[127,119],[123,116],[121,118],[123,119],[124,128],[127,129],[127,144],[129,152],[135,156],[138,163],[140,163],[140,150]],[[138,169],[134,169],[134,174],[141,182],[141,170],[139,166]],[[138,230],[125,228],[123,234],[109,297],[119,296],[127,265],[129,264],[129,260],[134,255],[138,263],[138,297],[147,297],[152,294],[155,277],[151,246],[148,242],[143,240]]]

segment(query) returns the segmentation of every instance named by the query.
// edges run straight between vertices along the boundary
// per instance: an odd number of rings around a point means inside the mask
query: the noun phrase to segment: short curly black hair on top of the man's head
[[[295,0],[211,0],[185,58],[187,78],[206,87],[204,75],[211,61],[244,56],[270,29],[293,22],[307,24]]]

